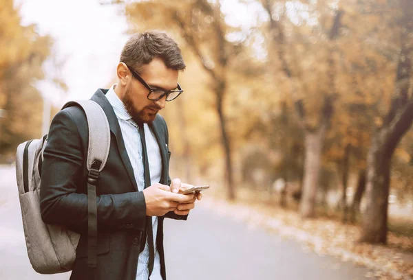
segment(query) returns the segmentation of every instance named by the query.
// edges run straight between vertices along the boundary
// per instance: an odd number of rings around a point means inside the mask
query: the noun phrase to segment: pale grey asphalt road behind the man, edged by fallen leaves
[[[302,244],[220,217],[201,207],[186,222],[165,221],[169,280],[352,280],[366,268],[308,253]],[[30,266],[21,223],[14,167],[0,167],[0,279],[69,279],[39,275]]]

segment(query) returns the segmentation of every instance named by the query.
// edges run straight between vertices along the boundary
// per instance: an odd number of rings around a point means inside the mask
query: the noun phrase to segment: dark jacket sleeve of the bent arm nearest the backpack
[[[41,175],[41,217],[76,231],[87,229],[87,195],[78,193],[85,167],[78,128],[70,112],[53,119],[44,151]],[[96,198],[98,229],[145,229],[146,205],[142,191],[104,194]],[[125,226],[127,225],[127,226]]]

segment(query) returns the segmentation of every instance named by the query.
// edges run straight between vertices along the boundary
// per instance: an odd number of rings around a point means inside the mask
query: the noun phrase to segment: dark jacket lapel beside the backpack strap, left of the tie
[[[122,131],[120,130],[118,118],[115,115],[114,108],[109,103],[105,94],[107,93],[107,89],[98,89],[96,93],[92,96],[92,100],[99,104],[103,111],[107,116],[107,120],[109,121],[110,131],[116,137],[116,143],[118,144],[118,149],[120,153],[120,157],[122,158],[123,164],[125,165],[125,169],[127,170],[127,174],[129,175],[129,179],[131,180],[132,185],[138,191],[138,185],[136,184],[135,176],[134,176],[134,169],[132,168],[131,161],[129,160],[129,156],[127,155],[127,151],[125,148],[125,142],[123,142]],[[163,158],[162,158],[163,162]]]

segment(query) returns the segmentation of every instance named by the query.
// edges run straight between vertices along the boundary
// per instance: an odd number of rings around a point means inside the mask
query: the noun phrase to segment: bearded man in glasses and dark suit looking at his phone
[[[163,219],[186,220],[195,203],[194,195],[178,194],[190,185],[179,179],[171,183],[168,130],[158,115],[182,93],[178,72],[184,68],[180,49],[167,34],[136,34],[120,56],[118,84],[98,89],[92,97],[111,130],[109,156],[96,186],[97,279],[166,279]],[[50,126],[40,193],[45,223],[81,233],[70,277],[76,280],[87,279],[87,143],[83,110],[61,110]],[[151,182],[147,188],[145,153]],[[147,216],[151,223],[145,222]]]

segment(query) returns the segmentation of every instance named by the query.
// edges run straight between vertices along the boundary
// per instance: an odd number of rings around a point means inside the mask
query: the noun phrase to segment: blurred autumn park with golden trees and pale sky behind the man
[[[1,164],[116,82],[130,34],[165,30],[187,63],[171,177],[413,275],[413,1],[0,0],[0,22]]]

